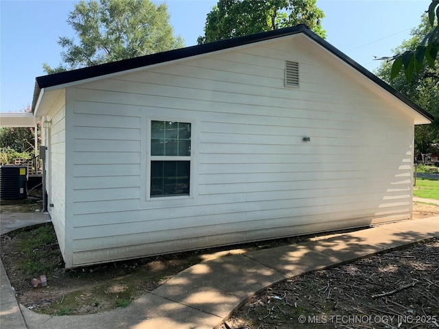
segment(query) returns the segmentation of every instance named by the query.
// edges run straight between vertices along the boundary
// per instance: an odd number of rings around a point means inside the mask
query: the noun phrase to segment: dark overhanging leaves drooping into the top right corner
[[[420,73],[423,69],[425,60],[431,68],[435,66],[439,51],[439,0],[431,0],[427,14],[429,23],[427,34],[416,42],[416,47],[399,51],[393,56],[390,79],[394,79],[403,69],[407,81],[410,82],[415,69],[416,73]]]

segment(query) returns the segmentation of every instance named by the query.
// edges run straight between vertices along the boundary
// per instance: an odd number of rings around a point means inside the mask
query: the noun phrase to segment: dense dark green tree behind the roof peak
[[[219,0],[207,14],[198,44],[305,24],[325,37],[316,0]]]

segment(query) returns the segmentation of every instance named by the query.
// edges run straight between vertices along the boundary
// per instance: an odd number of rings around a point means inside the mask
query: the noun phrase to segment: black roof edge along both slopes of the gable
[[[392,88],[389,84],[383,82],[376,75],[370,73],[363,66],[355,62],[352,58],[346,56],[342,51],[333,47],[329,42],[320,38],[317,34],[311,32],[305,25],[296,25],[294,27],[285,27],[283,29],[275,29],[269,32],[260,32],[257,34],[250,34],[248,36],[240,36],[237,38],[230,38],[226,40],[218,40],[215,42],[209,42],[203,45],[195,45],[191,47],[185,47],[181,49],[175,49],[171,51],[164,51],[162,53],[154,53],[152,55],[140,56],[136,58],[130,58],[127,60],[119,60],[117,62],[110,62],[106,64],[99,64],[95,66],[88,66],[82,69],[75,69],[72,71],[66,71],[61,73],[54,73],[50,75],[43,75],[36,77],[35,88],[34,88],[34,98],[32,100],[32,112],[36,110],[36,104],[38,98],[40,97],[41,90],[43,88],[61,86],[64,84],[69,84],[72,82],[79,82],[81,80],[91,79],[95,77],[100,77],[104,75],[109,75],[112,73],[119,73],[123,71],[128,71],[132,69],[139,69],[141,67],[150,66],[154,64],[162,64],[166,62],[171,62],[173,60],[180,60],[184,58],[190,58],[193,56],[198,56],[206,53],[211,53],[214,51],[221,51],[224,49],[230,49],[233,47],[239,47],[244,45],[250,45],[252,43],[261,42],[265,40],[271,40],[275,38],[281,38],[283,36],[292,36],[294,34],[304,34],[318,45],[327,49],[327,51],[333,53],[337,58],[346,62],[353,69],[357,70],[362,75],[368,77],[368,79],[375,82],[381,86],[388,93],[394,95],[394,97],[403,101],[407,106],[413,108],[416,112],[421,114],[425,119],[433,121],[434,117],[429,114],[426,110],[418,106],[416,103],[405,97],[403,94],[399,93],[396,89]]]

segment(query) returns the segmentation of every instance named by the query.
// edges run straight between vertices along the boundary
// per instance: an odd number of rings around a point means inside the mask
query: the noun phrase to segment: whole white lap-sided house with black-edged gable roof
[[[433,117],[304,25],[36,78],[67,268],[412,217]]]

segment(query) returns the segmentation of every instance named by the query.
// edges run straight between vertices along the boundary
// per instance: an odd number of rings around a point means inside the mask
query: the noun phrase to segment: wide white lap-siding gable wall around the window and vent
[[[413,119],[300,38],[69,89],[73,266],[410,218]],[[146,199],[156,117],[194,122],[193,199]]]

